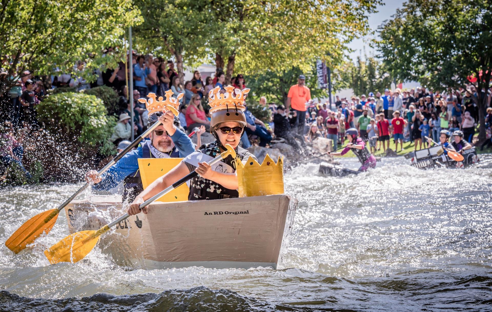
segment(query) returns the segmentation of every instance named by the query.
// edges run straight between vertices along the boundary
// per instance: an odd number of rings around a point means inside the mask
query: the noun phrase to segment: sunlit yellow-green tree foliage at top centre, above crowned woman
[[[342,61],[346,43],[367,33],[367,14],[380,3],[215,0],[207,12],[211,59],[225,69],[226,83],[235,71],[309,71],[320,57],[334,66]]]

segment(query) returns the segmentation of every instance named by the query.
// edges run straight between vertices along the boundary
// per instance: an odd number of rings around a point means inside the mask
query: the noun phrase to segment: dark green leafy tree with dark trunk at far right
[[[402,81],[436,90],[469,85],[479,108],[479,144],[486,139],[485,109],[492,74],[491,0],[409,0],[379,28],[384,62]]]

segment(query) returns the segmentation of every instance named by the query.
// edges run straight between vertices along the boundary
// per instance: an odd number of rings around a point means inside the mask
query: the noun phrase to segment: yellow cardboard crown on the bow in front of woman
[[[236,158],[239,197],[283,194],[283,157],[277,163],[267,154],[260,165],[249,157],[246,164]]]

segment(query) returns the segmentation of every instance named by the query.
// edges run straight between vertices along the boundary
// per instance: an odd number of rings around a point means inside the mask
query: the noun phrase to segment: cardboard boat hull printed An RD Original
[[[98,246],[119,265],[146,269],[273,267],[282,262],[297,200],[266,195],[154,202],[149,214],[122,221]],[[72,201],[70,233],[95,230],[124,214],[119,196]]]

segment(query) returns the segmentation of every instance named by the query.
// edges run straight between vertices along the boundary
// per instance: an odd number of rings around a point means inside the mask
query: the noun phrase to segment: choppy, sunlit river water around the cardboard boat
[[[299,207],[278,270],[142,270],[97,247],[49,265],[42,251],[68,235],[64,216],[13,255],[3,242],[80,185],[0,189],[0,311],[492,311],[492,157],[464,170],[406,163],[343,178],[316,164],[286,173]]]

